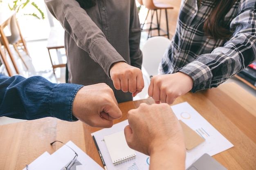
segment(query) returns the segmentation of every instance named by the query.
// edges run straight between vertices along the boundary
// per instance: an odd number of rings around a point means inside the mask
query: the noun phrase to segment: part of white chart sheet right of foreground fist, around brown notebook
[[[171,108],[178,119],[182,120],[205,139],[202,144],[190,152],[186,152],[186,168],[204,155],[204,153],[213,156],[234,146],[189,103],[183,102],[173,105]]]

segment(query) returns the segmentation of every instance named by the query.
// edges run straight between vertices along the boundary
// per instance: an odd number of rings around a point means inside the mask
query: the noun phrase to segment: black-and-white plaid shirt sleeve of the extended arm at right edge
[[[256,60],[255,9],[254,1],[241,1],[230,24],[232,38],[178,70],[192,77],[193,92],[217,87]]]

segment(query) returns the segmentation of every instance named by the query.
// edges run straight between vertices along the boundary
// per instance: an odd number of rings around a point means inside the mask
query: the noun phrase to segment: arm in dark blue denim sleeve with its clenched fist
[[[122,113],[105,83],[82,86],[54,84],[40,76],[0,74],[0,116],[17,119],[56,117],[109,128]]]

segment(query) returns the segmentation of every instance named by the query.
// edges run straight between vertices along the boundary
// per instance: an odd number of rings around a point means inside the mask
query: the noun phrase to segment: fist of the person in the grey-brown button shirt
[[[126,62],[117,62],[110,68],[110,77],[117,90],[132,93],[135,97],[144,88],[142,72]]]

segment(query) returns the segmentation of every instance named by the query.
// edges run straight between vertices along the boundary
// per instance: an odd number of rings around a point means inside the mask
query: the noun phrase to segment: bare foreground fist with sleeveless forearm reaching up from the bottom
[[[127,144],[150,155],[150,170],[185,169],[182,127],[168,104],[140,104],[128,111],[128,122],[124,128]]]

